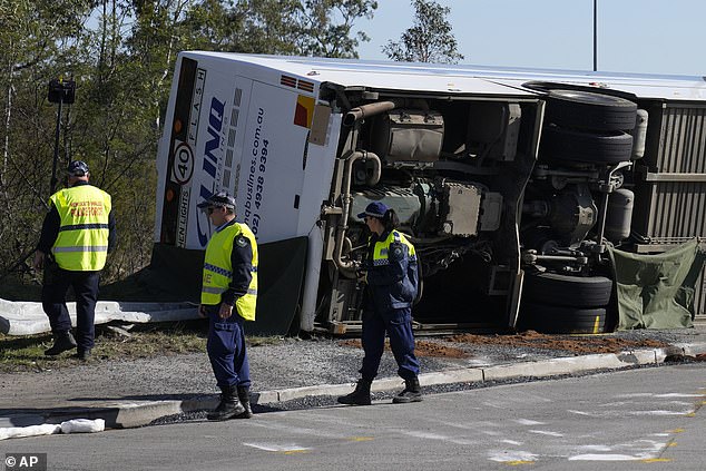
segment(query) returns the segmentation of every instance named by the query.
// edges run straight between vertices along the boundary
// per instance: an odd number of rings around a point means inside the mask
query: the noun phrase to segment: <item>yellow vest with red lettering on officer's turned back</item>
[[[110,195],[91,185],[61,189],[49,197],[59,212],[60,225],[51,252],[63,269],[102,269],[108,256]]]

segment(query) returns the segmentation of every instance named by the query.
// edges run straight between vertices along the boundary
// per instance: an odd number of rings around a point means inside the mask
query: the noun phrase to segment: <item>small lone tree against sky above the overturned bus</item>
[[[463,59],[451,33],[447,16],[449,7],[433,0],[412,0],[414,24],[402,33],[400,41],[388,41],[382,51],[388,58],[405,62],[458,63]]]

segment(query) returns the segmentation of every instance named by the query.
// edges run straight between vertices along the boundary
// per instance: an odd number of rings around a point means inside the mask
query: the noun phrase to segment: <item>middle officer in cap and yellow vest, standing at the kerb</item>
[[[208,317],[206,350],[222,394],[207,418],[249,419],[251,375],[243,321],[255,320],[257,244],[249,227],[235,222],[235,198],[226,192],[197,206],[216,227],[206,246],[199,314]]]

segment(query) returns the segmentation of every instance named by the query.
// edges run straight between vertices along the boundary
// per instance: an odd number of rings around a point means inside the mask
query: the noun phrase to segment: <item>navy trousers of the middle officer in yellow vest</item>
[[[251,367],[245,350],[243,317],[233,310],[228,318],[218,316],[219,305],[206,306],[208,341],[206,351],[218,387],[251,386]]]

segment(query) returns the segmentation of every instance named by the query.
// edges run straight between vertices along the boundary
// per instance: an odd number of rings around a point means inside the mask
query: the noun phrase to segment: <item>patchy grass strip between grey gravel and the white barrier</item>
[[[125,336],[109,330],[106,325],[96,326],[96,346],[88,362],[107,360],[131,361],[154,356],[177,355],[183,353],[206,354],[208,324],[205,320],[165,323],[136,324]],[[246,337],[248,346],[273,345],[281,337]],[[50,334],[4,335],[0,334],[0,372],[27,372],[57,370],[80,364],[71,355],[76,351],[59,356],[45,356],[45,350],[52,345]]]

